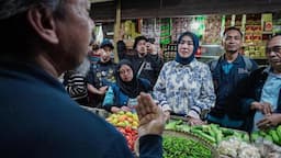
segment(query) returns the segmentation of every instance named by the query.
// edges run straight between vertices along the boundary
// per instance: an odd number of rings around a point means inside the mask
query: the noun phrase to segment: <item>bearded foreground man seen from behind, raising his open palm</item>
[[[0,155],[12,158],[133,158],[104,119],[70,99],[58,76],[87,56],[88,0],[0,2]],[[19,29],[20,26],[20,29]],[[139,153],[160,158],[164,114],[138,97]]]

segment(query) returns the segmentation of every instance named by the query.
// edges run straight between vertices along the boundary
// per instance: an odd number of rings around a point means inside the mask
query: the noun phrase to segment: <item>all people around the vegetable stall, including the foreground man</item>
[[[153,38],[136,37],[131,53],[121,38],[115,64],[114,44],[91,40],[88,9],[88,0],[0,3],[1,154],[134,157],[112,125],[80,105],[136,112],[140,158],[162,157],[170,115],[246,132],[281,124],[281,35],[269,40],[261,68],[240,54],[237,27],[225,30],[225,53],[207,64],[195,58],[192,32],[179,36],[176,58],[165,64]]]

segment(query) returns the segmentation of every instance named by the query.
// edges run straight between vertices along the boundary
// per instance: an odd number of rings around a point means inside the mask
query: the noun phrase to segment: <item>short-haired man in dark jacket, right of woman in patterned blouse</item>
[[[243,33],[231,26],[224,31],[223,46],[225,53],[212,60],[210,69],[216,93],[215,106],[207,115],[210,123],[224,127],[244,129],[244,116],[239,114],[237,87],[251,71],[258,68],[255,60],[240,55]]]

